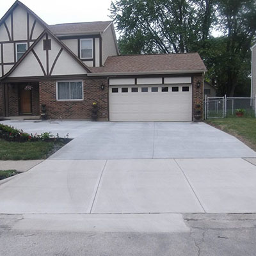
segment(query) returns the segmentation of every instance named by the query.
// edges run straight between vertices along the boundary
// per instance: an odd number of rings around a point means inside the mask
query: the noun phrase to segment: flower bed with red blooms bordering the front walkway
[[[53,136],[51,132],[43,132],[42,134],[28,134],[22,130],[15,129],[9,125],[0,124],[0,138],[7,141],[61,141],[63,143],[68,143],[70,139],[68,134],[64,138],[60,138],[59,134]]]

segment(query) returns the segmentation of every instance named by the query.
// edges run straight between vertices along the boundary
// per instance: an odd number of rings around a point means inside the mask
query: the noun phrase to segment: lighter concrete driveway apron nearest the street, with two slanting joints
[[[256,212],[244,159],[46,160],[0,186],[1,214]]]

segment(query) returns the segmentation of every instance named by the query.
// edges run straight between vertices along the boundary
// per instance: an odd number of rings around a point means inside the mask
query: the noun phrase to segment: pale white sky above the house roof
[[[47,24],[111,20],[111,0],[20,0]],[[15,0],[1,0],[0,17]]]

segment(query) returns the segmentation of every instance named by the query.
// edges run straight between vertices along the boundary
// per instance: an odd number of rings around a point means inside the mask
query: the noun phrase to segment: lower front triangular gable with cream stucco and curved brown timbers
[[[51,40],[51,50],[44,50],[44,40]],[[80,61],[51,31],[45,30],[6,77],[58,76],[86,74],[88,67]]]

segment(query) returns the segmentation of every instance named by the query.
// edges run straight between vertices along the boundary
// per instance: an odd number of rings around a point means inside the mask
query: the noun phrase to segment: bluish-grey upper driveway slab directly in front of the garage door
[[[97,122],[50,159],[163,159],[256,157],[210,125],[194,122]]]

